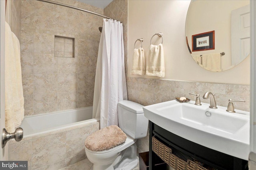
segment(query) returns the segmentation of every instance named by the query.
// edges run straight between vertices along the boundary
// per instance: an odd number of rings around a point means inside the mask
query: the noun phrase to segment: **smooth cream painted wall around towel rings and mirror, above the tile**
[[[162,32],[166,69],[164,79],[250,84],[249,57],[235,68],[224,72],[211,72],[194,62],[185,41],[185,21],[189,4],[188,0],[130,0],[128,2],[128,76],[156,78],[131,75],[130,69],[136,39],[144,38],[143,48],[145,56],[148,56],[152,35]]]

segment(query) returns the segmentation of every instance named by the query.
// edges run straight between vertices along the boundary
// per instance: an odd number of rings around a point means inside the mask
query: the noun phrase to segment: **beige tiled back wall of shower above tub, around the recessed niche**
[[[99,14],[76,0],[55,0]],[[36,0],[21,1],[25,116],[92,106],[102,17]],[[74,38],[74,57],[54,54],[54,36]]]

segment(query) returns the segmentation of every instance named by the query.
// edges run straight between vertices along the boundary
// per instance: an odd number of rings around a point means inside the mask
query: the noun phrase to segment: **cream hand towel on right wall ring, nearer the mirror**
[[[146,75],[164,77],[164,48],[162,44],[150,45]]]

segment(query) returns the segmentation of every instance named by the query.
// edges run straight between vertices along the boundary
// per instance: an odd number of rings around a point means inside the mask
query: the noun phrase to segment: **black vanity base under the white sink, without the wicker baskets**
[[[188,161],[197,162],[200,166],[206,170],[248,170],[248,161],[218,152],[216,150],[209,149],[197,143],[188,141],[182,137],[179,137],[160,126],[149,121],[150,126],[150,140],[149,140],[149,170],[159,170],[155,166],[157,152],[154,152],[155,140],[164,144],[165,146],[176,150],[179,155],[174,156],[181,159],[188,158]],[[152,150],[152,137],[153,137],[153,150]],[[202,138],[202,140],[204,140]],[[175,153],[174,153],[175,154]],[[180,156],[182,155],[182,156]],[[160,153],[160,157],[162,154]],[[187,160],[185,160],[187,161]],[[199,168],[200,169],[200,168]]]

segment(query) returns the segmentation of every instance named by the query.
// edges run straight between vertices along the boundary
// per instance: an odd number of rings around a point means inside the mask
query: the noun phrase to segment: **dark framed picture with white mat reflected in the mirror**
[[[214,31],[192,35],[192,51],[215,49]]]

